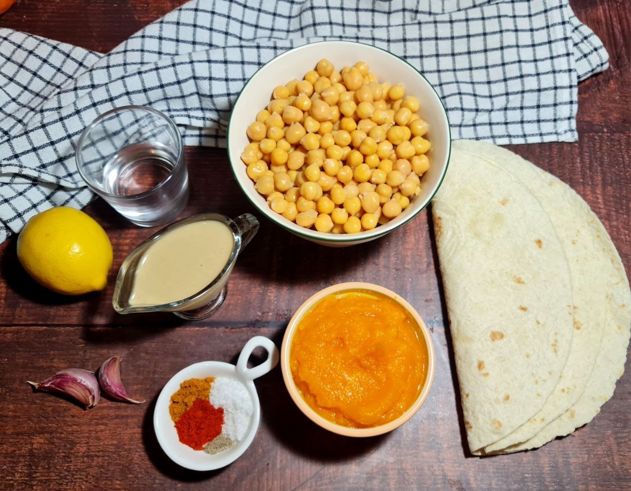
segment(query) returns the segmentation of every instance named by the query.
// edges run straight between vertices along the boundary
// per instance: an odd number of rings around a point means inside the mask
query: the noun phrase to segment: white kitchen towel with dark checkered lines
[[[223,146],[259,66],[338,38],[403,56],[441,95],[454,138],[498,144],[577,139],[577,82],[608,66],[567,0],[197,0],[106,55],[0,29],[0,242],[93,198],[74,150],[97,115],[150,105],[186,145]]]

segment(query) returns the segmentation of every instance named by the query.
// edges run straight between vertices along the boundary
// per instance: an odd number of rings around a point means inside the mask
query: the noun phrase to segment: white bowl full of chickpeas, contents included
[[[350,41],[269,61],[228,125],[230,165],[247,198],[289,232],[333,247],[377,239],[418,215],[450,151],[432,85],[398,56]]]

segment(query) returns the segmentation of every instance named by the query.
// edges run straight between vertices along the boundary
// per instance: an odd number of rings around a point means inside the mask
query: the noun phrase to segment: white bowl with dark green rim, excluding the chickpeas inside
[[[358,61],[365,61],[370,71],[377,75],[379,82],[391,85],[400,83],[406,94],[414,95],[421,103],[421,117],[429,124],[425,138],[432,143],[432,150],[427,153],[430,168],[421,179],[421,192],[410,206],[385,225],[378,225],[372,230],[358,234],[333,234],[300,227],[269,208],[264,196],[254,189],[254,182],[247,175],[247,166],[240,155],[249,139],[245,133],[247,127],[256,119],[256,114],[267,107],[274,87],[285,85],[293,78],[302,80],[307,71],[313,70],[322,58],[331,61],[336,70],[343,66],[352,66]],[[362,244],[392,232],[409,222],[432,200],[447,172],[451,151],[451,131],[449,120],[440,97],[433,86],[416,68],[398,56],[386,50],[352,41],[322,41],[288,50],[262,66],[241,90],[235,102],[228,125],[228,158],[232,172],[245,196],[256,208],[272,222],[285,228],[292,234],[303,237],[317,244],[332,247]]]

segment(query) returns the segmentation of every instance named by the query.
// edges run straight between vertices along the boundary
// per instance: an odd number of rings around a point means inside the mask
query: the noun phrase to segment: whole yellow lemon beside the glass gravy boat
[[[105,288],[112,256],[105,230],[83,211],[66,206],[33,216],[18,237],[18,259],[27,273],[66,295]]]

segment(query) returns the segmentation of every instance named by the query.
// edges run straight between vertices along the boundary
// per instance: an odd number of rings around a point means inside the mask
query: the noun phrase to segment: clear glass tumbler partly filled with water
[[[76,162],[90,189],[141,227],[174,221],[189,201],[180,132],[150,107],[97,117],[79,138]]]

